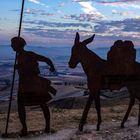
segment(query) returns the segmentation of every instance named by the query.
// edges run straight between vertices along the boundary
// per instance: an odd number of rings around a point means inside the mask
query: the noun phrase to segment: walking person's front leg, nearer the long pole
[[[19,114],[20,122],[22,124],[22,130],[20,136],[26,136],[27,135],[26,111],[25,111],[25,106],[23,104],[23,101],[19,97],[18,97],[18,114]]]

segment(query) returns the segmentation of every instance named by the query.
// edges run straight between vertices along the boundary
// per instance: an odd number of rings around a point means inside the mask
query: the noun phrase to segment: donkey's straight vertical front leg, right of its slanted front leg
[[[97,97],[95,97],[95,108],[97,111],[97,117],[98,117],[98,123],[97,123],[97,131],[100,130],[100,124],[101,124],[101,105],[100,105],[100,96],[98,95]]]

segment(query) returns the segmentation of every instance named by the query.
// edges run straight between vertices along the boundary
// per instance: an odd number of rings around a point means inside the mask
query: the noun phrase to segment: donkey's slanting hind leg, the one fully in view
[[[130,102],[129,102],[129,106],[128,106],[127,112],[126,112],[126,114],[125,114],[125,116],[123,118],[123,121],[121,123],[121,128],[124,128],[124,123],[127,121],[129,113],[130,113],[134,103],[135,103],[135,98],[130,98]]]

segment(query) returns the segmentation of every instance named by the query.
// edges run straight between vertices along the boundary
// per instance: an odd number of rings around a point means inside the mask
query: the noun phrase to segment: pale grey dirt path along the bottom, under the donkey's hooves
[[[140,140],[140,127],[137,126],[137,119],[130,117],[124,129],[120,129],[120,122],[112,120],[102,123],[101,130],[96,131],[96,125],[85,125],[83,132],[78,132],[77,128],[66,128],[51,135],[27,136],[26,140]],[[1,138],[2,139],[2,138]]]

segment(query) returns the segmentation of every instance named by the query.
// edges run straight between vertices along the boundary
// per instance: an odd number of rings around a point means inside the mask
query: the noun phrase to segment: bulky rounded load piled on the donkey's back
[[[107,61],[111,66],[111,74],[132,75],[136,60],[136,50],[130,40],[117,40],[107,54]]]

